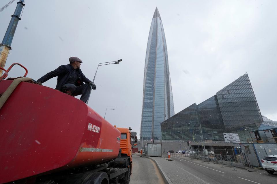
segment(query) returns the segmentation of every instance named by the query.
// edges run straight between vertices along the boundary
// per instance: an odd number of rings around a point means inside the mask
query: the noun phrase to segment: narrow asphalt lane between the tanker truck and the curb
[[[146,157],[133,155],[130,184],[164,184],[156,164]]]

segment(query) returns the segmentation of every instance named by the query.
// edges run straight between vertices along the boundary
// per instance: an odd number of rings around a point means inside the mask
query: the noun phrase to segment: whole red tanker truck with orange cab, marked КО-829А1
[[[136,133],[34,83],[25,67],[4,79],[10,68],[0,78],[0,183],[129,183]]]

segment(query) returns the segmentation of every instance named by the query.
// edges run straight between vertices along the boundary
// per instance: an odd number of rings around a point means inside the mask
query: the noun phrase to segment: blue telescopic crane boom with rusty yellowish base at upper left
[[[18,21],[21,19],[20,14],[24,6],[24,0],[19,0],[17,2],[17,6],[14,11],[14,14],[12,15],[8,29],[5,33],[2,43],[0,44],[0,67],[2,68],[5,67],[9,51],[12,49],[12,39],[14,37],[14,32],[16,30]],[[3,70],[0,70],[0,76],[2,76],[2,72]]]

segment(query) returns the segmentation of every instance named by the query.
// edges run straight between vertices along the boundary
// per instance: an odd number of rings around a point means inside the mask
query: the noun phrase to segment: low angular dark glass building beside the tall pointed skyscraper
[[[216,95],[162,122],[162,139],[201,141],[203,135],[204,141],[224,141],[223,133],[236,133],[241,142],[247,142],[262,122],[246,73]]]

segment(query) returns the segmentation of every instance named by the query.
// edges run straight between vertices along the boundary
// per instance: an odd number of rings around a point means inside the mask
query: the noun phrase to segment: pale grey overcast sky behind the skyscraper
[[[10,0],[1,0],[3,7]],[[93,79],[89,106],[140,131],[147,39],[155,8],[166,37],[175,114],[248,72],[261,113],[277,120],[277,1],[26,0],[6,67],[38,79],[77,56]],[[16,2],[0,13],[4,37]],[[9,76],[23,75],[15,67]],[[43,85],[55,88],[57,78]]]

